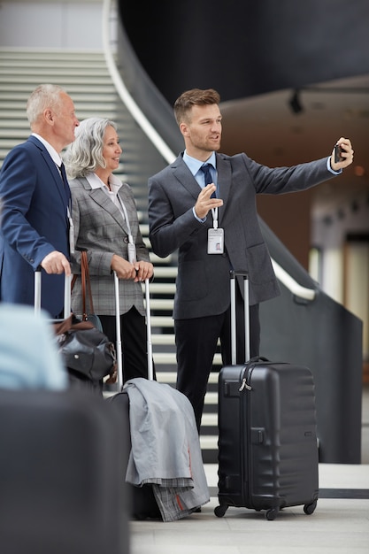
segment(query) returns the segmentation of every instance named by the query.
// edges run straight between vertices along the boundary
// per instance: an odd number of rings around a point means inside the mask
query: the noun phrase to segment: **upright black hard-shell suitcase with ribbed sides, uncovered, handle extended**
[[[244,279],[245,359],[235,365],[235,277]],[[319,495],[314,382],[309,368],[250,359],[249,282],[231,273],[232,365],[219,372],[219,506],[314,512]]]

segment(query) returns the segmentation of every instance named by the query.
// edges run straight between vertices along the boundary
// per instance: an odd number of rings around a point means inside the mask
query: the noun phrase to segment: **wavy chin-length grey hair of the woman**
[[[75,129],[75,140],[69,144],[63,156],[70,179],[85,177],[97,167],[106,167],[103,158],[106,127],[117,130],[114,121],[103,118],[88,118]]]

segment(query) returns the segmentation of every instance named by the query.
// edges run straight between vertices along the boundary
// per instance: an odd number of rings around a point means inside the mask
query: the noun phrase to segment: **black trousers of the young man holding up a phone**
[[[241,292],[236,287],[237,364],[245,360],[244,306]],[[177,347],[176,388],[188,396],[200,430],[212,361],[220,339],[223,365],[231,365],[230,308],[219,315],[196,319],[176,319],[174,322]],[[259,355],[260,322],[258,304],[250,306],[250,357]]]

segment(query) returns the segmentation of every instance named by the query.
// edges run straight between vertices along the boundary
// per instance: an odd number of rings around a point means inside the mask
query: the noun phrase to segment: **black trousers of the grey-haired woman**
[[[117,341],[115,316],[99,315],[104,334],[114,344]],[[148,378],[147,330],[145,318],[133,306],[120,316],[123,381],[135,377]],[[155,369],[154,369],[155,378]]]

